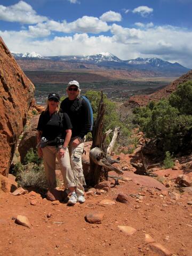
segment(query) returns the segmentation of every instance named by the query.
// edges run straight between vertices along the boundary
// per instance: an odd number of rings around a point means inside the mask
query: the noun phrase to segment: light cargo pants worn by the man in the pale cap
[[[73,147],[71,145],[74,139],[75,138],[71,138],[68,149],[70,155],[71,168],[74,172],[74,177],[76,181],[75,193],[77,196],[82,196],[84,195],[83,185],[86,185],[82,167],[82,155],[85,138],[82,139],[81,143],[77,147]]]

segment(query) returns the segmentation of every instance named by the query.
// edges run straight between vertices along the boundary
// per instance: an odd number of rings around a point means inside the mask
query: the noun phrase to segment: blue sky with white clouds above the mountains
[[[11,52],[109,52],[192,68],[192,0],[0,0],[0,36]]]

